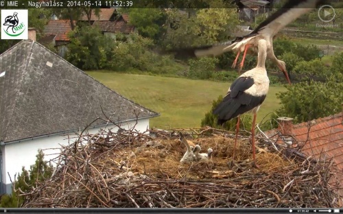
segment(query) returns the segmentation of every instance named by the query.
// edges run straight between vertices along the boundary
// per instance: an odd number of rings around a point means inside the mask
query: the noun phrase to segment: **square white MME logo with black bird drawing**
[[[27,39],[27,10],[1,10],[1,39]]]

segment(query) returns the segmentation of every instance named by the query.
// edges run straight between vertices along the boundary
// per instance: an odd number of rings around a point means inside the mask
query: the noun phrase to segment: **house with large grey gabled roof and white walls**
[[[137,91],[137,93],[139,93]],[[124,129],[145,131],[158,113],[122,97],[32,40],[22,40],[0,55],[1,193],[10,192],[14,174],[34,164],[38,149],[60,148],[92,121],[105,118]],[[88,132],[118,128],[106,121]],[[57,150],[45,150],[47,160]]]

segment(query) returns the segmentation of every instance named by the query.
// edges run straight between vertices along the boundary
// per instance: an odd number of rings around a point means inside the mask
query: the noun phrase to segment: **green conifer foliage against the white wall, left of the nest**
[[[0,207],[21,207],[23,204],[24,196],[18,196],[22,192],[32,190],[36,185],[36,182],[42,182],[45,178],[50,178],[53,172],[53,167],[44,160],[44,154],[42,150],[38,150],[36,155],[36,162],[31,165],[29,171],[24,167],[21,174],[14,180],[14,189],[12,189],[12,194],[2,195],[0,201]],[[20,191],[19,191],[20,189]]]

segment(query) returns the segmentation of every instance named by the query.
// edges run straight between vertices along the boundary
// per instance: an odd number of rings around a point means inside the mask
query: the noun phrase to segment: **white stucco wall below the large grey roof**
[[[132,128],[135,124],[135,121],[128,121],[121,124],[121,128],[129,129]],[[88,130],[88,133],[95,134],[101,129],[104,129],[105,126],[91,128]],[[149,119],[139,119],[135,129],[139,132],[144,132],[149,128]],[[106,127],[107,129],[112,129],[113,132],[118,130],[117,126],[110,125]],[[81,132],[82,130],[80,130]],[[70,132],[69,136],[75,136],[75,133]],[[8,192],[11,186],[10,174],[12,180],[14,180],[14,175],[20,174],[21,169],[24,166],[25,169],[29,169],[31,165],[34,165],[36,160],[36,155],[38,154],[38,149],[43,150],[45,154],[45,160],[51,160],[58,156],[60,152],[60,145],[68,145],[68,140],[66,139],[67,134],[54,134],[50,136],[43,136],[40,138],[21,141],[17,143],[8,143],[5,144],[5,152],[3,154],[3,183],[6,185],[5,191]],[[70,143],[73,143],[72,139]],[[54,150],[57,148],[58,150]],[[46,150],[49,149],[49,150]],[[53,162],[52,162],[53,163]],[[54,165],[54,163],[53,163]]]

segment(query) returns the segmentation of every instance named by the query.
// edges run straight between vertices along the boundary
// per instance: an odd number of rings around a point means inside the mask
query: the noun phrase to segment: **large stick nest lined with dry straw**
[[[276,152],[260,141],[255,169],[248,137],[230,161],[232,134],[183,133],[203,150],[211,147],[212,158],[180,164],[186,148],[176,132],[83,134],[62,149],[51,179],[23,194],[23,207],[333,207],[338,198],[329,185],[331,160]]]

